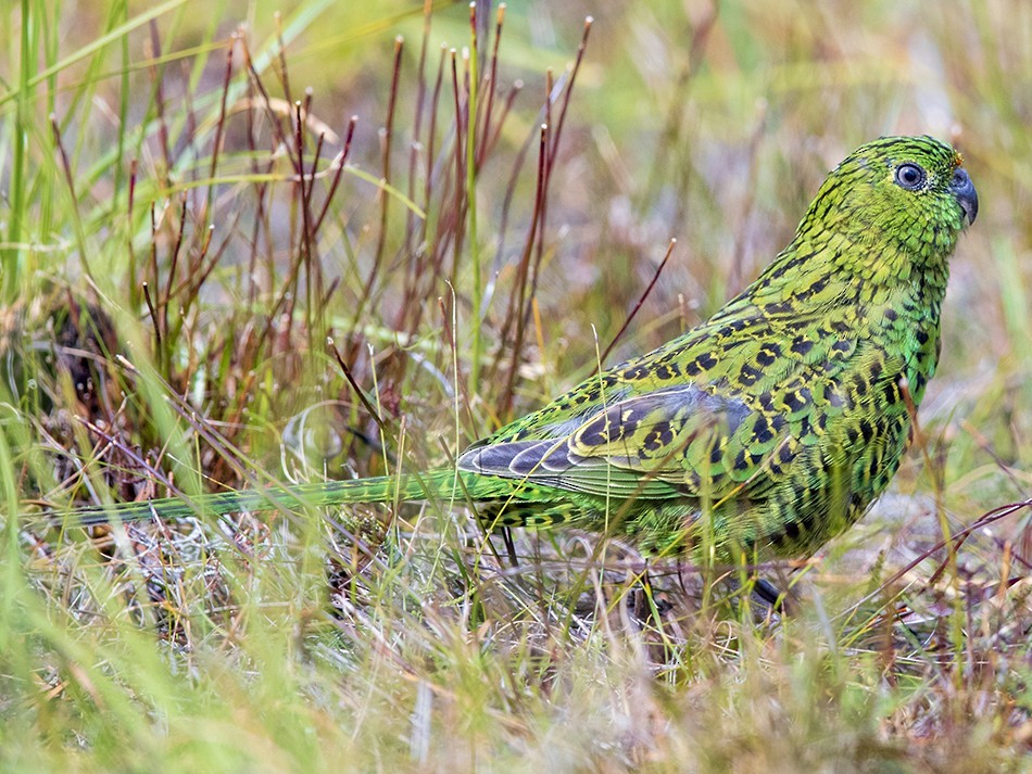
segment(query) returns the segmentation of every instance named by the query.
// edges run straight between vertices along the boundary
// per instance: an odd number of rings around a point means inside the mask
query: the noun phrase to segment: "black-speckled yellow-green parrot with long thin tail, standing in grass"
[[[456,470],[71,518],[435,498],[473,502],[489,525],[570,523],[649,551],[811,554],[899,465],[904,389],[919,404],[935,372],[947,258],[977,212],[952,148],[876,140],[829,175],[792,243],[709,320],[502,428]]]

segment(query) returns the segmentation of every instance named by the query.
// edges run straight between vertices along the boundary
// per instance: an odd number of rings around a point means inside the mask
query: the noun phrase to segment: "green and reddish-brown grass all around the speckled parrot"
[[[484,5],[2,11],[0,769],[1032,770],[1030,9]],[[982,211],[921,440],[791,616],[432,504],[16,518],[444,464],[889,132]]]

